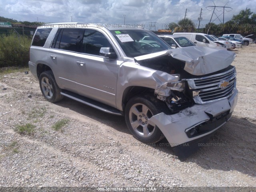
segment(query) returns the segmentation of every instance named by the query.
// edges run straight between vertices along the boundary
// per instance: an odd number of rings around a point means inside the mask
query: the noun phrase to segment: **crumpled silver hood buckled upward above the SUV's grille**
[[[175,59],[186,62],[184,70],[192,75],[210,74],[228,67],[236,54],[227,50],[190,46],[179,49],[165,50],[143,56],[134,57],[135,60],[145,60],[170,54]]]

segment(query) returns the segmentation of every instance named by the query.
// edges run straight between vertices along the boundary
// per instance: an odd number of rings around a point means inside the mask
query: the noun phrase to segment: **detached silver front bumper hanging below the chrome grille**
[[[174,147],[207,136],[223,126],[230,119],[237,99],[238,91],[235,89],[229,98],[196,104],[172,115],[162,112],[149,121],[158,126],[170,146]]]

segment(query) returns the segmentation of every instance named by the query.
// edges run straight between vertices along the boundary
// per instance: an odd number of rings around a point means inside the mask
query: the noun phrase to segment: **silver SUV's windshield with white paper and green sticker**
[[[128,57],[171,49],[154,33],[146,30],[110,30]]]

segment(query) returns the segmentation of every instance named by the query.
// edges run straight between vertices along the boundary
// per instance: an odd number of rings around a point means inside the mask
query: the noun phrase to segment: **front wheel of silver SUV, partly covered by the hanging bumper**
[[[164,134],[148,120],[161,112],[170,110],[166,104],[153,96],[136,96],[131,98],[125,107],[124,116],[128,129],[137,140],[144,143],[156,143],[164,138]]]

